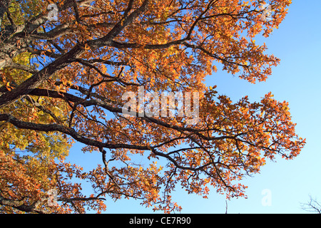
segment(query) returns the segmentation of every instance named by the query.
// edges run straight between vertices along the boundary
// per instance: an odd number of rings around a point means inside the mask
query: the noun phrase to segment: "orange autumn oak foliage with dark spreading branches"
[[[249,83],[265,81],[280,60],[255,36],[279,26],[290,0],[272,1],[269,20],[259,0],[0,4],[1,212],[103,212],[108,197],[180,211],[171,199],[176,186],[242,197],[243,177],[266,160],[296,157],[305,144],[288,104],[272,93],[233,102],[204,83],[218,66]],[[122,95],[141,86],[197,91],[198,122],[123,115]],[[85,172],[65,162],[74,142],[101,153],[101,165]],[[86,181],[91,195],[83,193]]]

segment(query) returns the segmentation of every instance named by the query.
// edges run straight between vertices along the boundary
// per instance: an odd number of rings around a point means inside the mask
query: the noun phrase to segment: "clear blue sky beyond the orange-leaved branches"
[[[228,213],[306,213],[300,203],[309,195],[321,201],[321,1],[293,0],[285,21],[265,41],[268,53],[281,59],[270,78],[255,85],[222,71],[210,76],[208,86],[217,85],[219,93],[233,100],[248,95],[260,100],[272,92],[275,99],[287,100],[297,134],[307,144],[295,160],[267,162],[260,174],[243,180],[248,185],[248,199],[228,201]],[[100,154],[83,155],[78,145],[71,149],[70,160],[92,170],[101,164]],[[263,190],[270,190],[271,205],[263,206]],[[225,196],[211,190],[209,198],[188,195],[180,187],[173,192],[173,201],[183,207],[181,213],[225,213]],[[106,213],[151,213],[136,200],[107,199]]]

